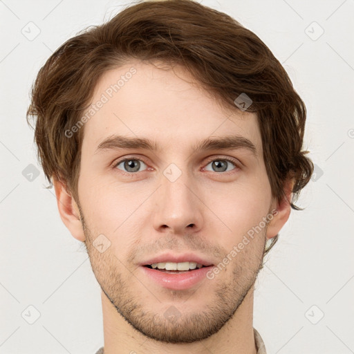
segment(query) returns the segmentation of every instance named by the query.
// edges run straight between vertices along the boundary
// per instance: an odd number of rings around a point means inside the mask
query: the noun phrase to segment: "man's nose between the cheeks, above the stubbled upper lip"
[[[203,226],[201,189],[187,174],[172,182],[162,175],[153,227],[158,232],[198,232]]]

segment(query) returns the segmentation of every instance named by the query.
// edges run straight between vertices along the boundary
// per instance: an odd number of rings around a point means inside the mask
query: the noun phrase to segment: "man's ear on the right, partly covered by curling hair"
[[[292,199],[292,187],[294,186],[295,180],[293,178],[288,178],[284,184],[283,188],[286,192],[286,196],[281,201],[273,201],[272,209],[274,210],[273,218],[268,223],[267,228],[267,239],[272,239],[274,236],[279,234],[283,225],[288,221],[291,211],[291,199]]]

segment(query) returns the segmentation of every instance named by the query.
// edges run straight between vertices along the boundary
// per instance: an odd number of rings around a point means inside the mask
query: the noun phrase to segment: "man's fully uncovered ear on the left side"
[[[77,204],[66,190],[66,186],[59,180],[53,178],[55,195],[57,196],[57,206],[63,223],[71,234],[78,241],[85,241],[84,229],[81,223],[81,216]]]

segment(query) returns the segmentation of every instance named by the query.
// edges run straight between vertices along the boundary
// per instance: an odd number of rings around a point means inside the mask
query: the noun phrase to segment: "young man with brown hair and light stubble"
[[[53,53],[28,115],[102,288],[97,353],[265,353],[254,281],[313,171],[265,44],[192,0],[137,3]]]

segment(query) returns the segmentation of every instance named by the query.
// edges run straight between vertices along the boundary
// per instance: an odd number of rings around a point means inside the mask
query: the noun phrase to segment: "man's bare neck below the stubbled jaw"
[[[133,328],[102,292],[104,354],[257,354],[253,333],[253,294],[254,286],[232,318],[214,335],[193,343],[168,344],[146,337]]]

